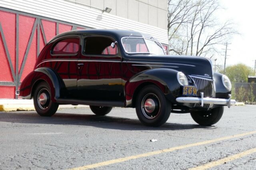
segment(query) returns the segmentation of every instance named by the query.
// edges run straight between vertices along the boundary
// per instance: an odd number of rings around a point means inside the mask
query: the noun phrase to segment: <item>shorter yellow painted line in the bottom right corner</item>
[[[220,159],[220,160],[216,160],[214,162],[210,162],[210,163],[204,164],[202,166],[197,166],[197,167],[191,168],[189,170],[206,170],[206,169],[212,168],[214,166],[218,166],[218,165],[224,164],[225,162],[229,162],[229,161],[232,161],[232,160],[235,160],[235,159],[238,159],[238,158],[242,158],[242,157],[244,157],[246,155],[249,155],[249,154],[252,154],[254,152],[256,152],[256,148],[253,148],[253,149],[250,149],[250,150],[246,150],[244,152],[241,152],[241,153],[238,153],[238,154],[234,154],[232,156],[228,156],[226,158],[223,158],[223,159]]]

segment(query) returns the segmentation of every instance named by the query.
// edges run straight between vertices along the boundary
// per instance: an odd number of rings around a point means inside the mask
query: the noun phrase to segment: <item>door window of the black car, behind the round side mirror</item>
[[[117,45],[112,48],[110,38],[88,37],[85,39],[84,53],[87,55],[116,55],[118,53]]]

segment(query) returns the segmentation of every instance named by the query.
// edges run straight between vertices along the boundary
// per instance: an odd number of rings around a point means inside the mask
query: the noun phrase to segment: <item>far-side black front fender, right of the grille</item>
[[[222,75],[223,74],[220,74],[220,73],[213,74],[216,98],[228,99],[229,98],[228,95],[231,94],[231,91],[226,89],[226,87],[223,85]]]

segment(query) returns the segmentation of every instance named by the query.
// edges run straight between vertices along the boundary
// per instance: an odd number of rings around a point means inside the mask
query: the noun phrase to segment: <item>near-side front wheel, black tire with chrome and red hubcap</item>
[[[141,123],[159,127],[166,123],[171,113],[171,103],[155,85],[144,87],[136,99],[136,113]]]

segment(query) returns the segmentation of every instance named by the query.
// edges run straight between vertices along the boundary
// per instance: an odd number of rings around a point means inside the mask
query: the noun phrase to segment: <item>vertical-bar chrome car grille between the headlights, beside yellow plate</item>
[[[204,97],[212,97],[212,80],[201,79],[193,76],[190,77],[196,85],[197,97],[201,97],[202,92],[204,93]],[[204,104],[203,108],[208,109],[209,106],[210,104]],[[201,107],[201,103],[195,103],[194,107]]]

